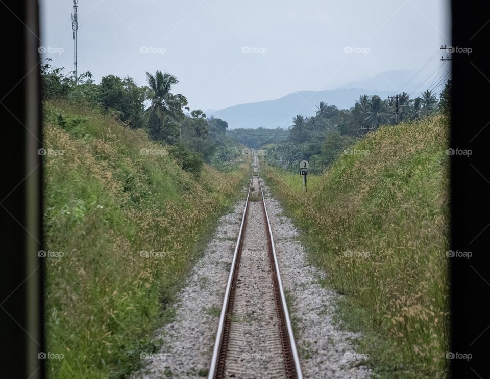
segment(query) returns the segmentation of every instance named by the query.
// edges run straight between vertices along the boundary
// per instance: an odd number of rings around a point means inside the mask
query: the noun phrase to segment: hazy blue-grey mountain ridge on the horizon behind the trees
[[[339,109],[349,109],[361,95],[379,95],[385,99],[407,91],[404,85],[411,78],[412,73],[409,70],[386,71],[372,79],[351,82],[335,90],[297,91],[275,100],[238,104],[217,111],[207,110],[206,115],[226,120],[230,129],[278,126],[287,128],[292,125],[292,118],[298,114],[314,115],[320,101],[335,105]],[[419,79],[415,77],[405,87],[416,88],[418,83],[420,83]],[[443,88],[441,86],[437,93],[440,93]],[[420,91],[424,89],[426,88],[421,86]]]

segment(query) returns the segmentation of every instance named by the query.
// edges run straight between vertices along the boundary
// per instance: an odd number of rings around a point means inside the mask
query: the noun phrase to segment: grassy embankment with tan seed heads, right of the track
[[[448,123],[380,128],[353,146],[358,155],[308,176],[308,196],[299,175],[267,170],[325,284],[347,295],[339,319],[364,332],[360,353],[383,378],[447,374]]]

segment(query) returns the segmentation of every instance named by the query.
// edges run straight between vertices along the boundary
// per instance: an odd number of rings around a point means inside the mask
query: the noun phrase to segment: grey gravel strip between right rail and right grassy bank
[[[352,341],[359,334],[339,330],[333,321],[335,302],[340,296],[321,286],[322,274],[308,265],[298,231],[283,214],[279,201],[271,197],[261,179],[265,206],[271,222],[282,285],[290,294],[290,317],[299,331],[295,335],[305,378],[369,378],[363,366],[365,356],[356,353]]]

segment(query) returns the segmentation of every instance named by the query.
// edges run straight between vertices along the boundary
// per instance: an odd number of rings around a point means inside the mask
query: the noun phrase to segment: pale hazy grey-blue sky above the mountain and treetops
[[[72,10],[71,0],[41,1],[44,57],[67,71]],[[445,0],[80,0],[78,10],[79,73],[144,85],[145,71],[166,71],[180,80],[173,92],[203,110],[415,72],[451,33]]]

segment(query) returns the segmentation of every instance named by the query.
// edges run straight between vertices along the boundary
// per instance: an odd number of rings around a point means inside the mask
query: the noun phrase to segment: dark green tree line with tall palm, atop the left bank
[[[231,156],[228,124],[207,117],[202,110],[190,110],[187,98],[173,93],[177,78],[169,73],[146,72],[145,86],[131,77],[107,75],[99,84],[91,72],[77,77],[64,68],[41,65],[41,94],[44,100],[65,100],[80,106],[97,107],[117,117],[133,129],[143,128],[148,137],[170,145],[170,152],[188,171],[199,172],[203,162],[226,160]]]

